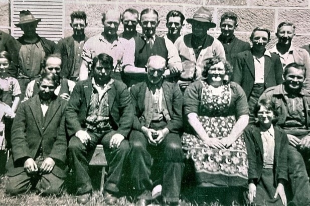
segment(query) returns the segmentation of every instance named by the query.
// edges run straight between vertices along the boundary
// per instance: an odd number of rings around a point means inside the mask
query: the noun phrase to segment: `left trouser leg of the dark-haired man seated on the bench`
[[[87,146],[76,136],[70,139],[68,146],[69,167],[73,171],[77,195],[88,193],[92,190],[91,179],[88,174],[88,163],[94,153],[97,137],[90,132],[88,133],[92,139]]]

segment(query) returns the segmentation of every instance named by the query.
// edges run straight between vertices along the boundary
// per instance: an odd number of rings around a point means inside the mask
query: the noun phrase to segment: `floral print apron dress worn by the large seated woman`
[[[222,92],[215,94],[214,87],[201,82],[203,89],[198,118],[210,138],[227,137],[236,122],[234,115],[228,115],[230,85],[222,85]],[[247,184],[247,152],[243,135],[227,149],[210,148],[196,135],[186,132],[182,136],[182,144],[187,150],[187,158],[194,161],[198,183],[219,186]]]

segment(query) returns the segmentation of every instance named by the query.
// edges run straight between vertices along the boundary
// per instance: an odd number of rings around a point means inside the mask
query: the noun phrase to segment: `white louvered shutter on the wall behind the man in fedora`
[[[11,0],[11,31],[14,37],[23,35],[15,23],[20,20],[20,11],[29,10],[39,22],[37,33],[50,40],[64,37],[64,0]]]

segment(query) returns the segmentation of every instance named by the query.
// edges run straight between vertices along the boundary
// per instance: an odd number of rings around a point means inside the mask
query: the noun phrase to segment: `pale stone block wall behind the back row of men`
[[[0,29],[8,31],[10,28],[10,0],[0,0]],[[236,35],[249,41],[251,31],[256,26],[265,26],[272,32],[269,47],[276,42],[274,31],[278,23],[289,20],[296,25],[296,36],[293,42],[296,46],[310,43],[310,0],[64,0],[64,33],[72,34],[69,25],[70,13],[74,10],[84,10],[88,15],[88,36],[102,31],[101,13],[108,9],[118,8],[120,11],[128,7],[136,8],[139,12],[151,7],[160,13],[158,32],[164,34],[166,28],[166,14],[171,9],[177,9],[184,13],[186,18],[192,17],[200,7],[210,8],[213,21],[217,27],[210,29],[209,33],[215,37],[220,34],[220,17],[225,11],[231,10],[239,16],[239,26]],[[122,25],[119,31],[122,30]],[[138,26],[138,30],[141,28]],[[182,33],[191,32],[191,27],[185,22]]]

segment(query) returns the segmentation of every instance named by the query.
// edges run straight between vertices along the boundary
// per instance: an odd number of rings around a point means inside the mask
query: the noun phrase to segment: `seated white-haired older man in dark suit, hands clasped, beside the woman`
[[[163,185],[164,203],[178,203],[184,153],[181,148],[182,93],[177,83],[164,81],[165,58],[155,55],[147,61],[147,79],[130,89],[135,116],[129,142],[134,187],[138,205],[151,199],[152,158],[160,163],[157,173]]]

